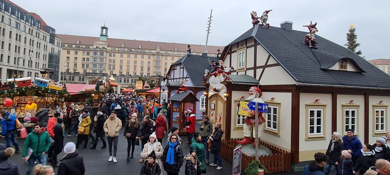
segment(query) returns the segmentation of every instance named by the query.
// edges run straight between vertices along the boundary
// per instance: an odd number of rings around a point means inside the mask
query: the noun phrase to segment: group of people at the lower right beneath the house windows
[[[374,144],[362,144],[353,129],[347,135],[333,132],[326,153],[316,153],[303,175],[390,175],[390,132]]]

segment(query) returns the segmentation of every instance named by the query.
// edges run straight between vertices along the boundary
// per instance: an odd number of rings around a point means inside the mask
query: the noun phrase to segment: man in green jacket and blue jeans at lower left
[[[27,135],[23,145],[22,157],[28,162],[26,175],[31,174],[31,169],[34,167],[34,163],[37,159],[40,164],[46,165],[50,144],[50,136],[49,133],[45,131],[43,123],[35,124],[33,132]],[[33,152],[30,157],[27,157],[29,148],[31,148]]]

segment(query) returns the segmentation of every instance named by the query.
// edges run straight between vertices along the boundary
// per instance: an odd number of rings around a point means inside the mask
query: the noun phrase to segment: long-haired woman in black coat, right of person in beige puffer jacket
[[[140,131],[140,123],[137,119],[137,113],[133,113],[131,119],[127,121],[124,130],[124,136],[127,139],[127,160],[133,158],[135,143],[137,140],[137,133]],[[131,149],[131,156],[130,156]]]

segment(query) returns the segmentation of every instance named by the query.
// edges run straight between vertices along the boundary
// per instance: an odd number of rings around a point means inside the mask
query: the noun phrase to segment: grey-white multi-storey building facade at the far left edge
[[[59,80],[60,40],[38,14],[9,0],[0,0],[0,79],[49,77]]]

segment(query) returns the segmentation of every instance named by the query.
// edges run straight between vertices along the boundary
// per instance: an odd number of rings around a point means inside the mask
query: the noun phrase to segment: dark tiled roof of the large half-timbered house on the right
[[[321,26],[318,28],[321,31]],[[304,29],[302,27],[302,30]],[[231,44],[248,38],[249,34],[254,34],[252,36],[297,83],[390,88],[389,75],[343,46],[318,36],[316,39],[319,43],[318,50],[311,50],[303,42],[308,33],[308,31],[289,31],[279,27],[267,29],[255,26]],[[328,54],[318,56],[321,55],[320,53]],[[362,72],[324,69],[340,58],[350,59]]]

